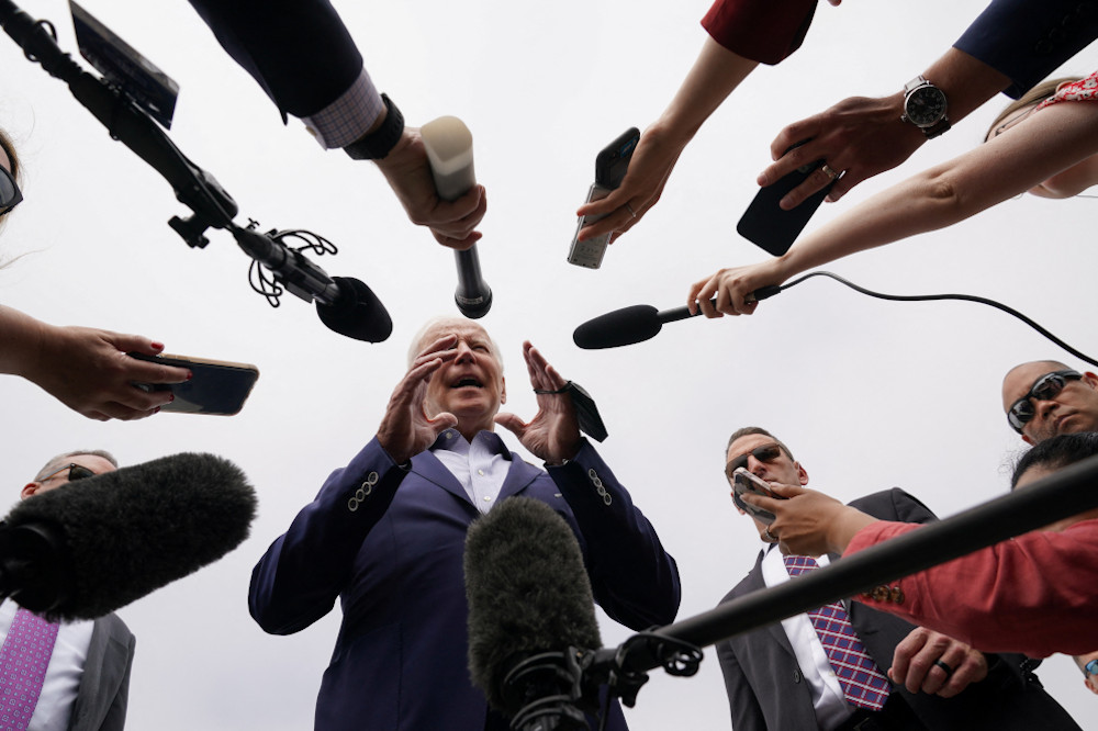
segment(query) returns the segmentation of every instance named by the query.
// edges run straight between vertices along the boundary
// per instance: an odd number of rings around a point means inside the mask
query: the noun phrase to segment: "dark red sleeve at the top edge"
[[[702,27],[732,53],[774,65],[800,47],[815,12],[816,0],[716,0]]]

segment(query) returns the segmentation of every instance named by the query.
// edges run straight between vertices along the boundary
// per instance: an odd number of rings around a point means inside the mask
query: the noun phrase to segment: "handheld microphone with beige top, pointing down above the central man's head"
[[[473,136],[456,116],[440,116],[419,128],[427,160],[435,177],[435,189],[444,201],[455,201],[477,184],[473,172]],[[453,252],[458,266],[458,289],[453,301],[461,314],[479,319],[492,308],[492,290],[480,271],[480,256],[473,244]]]

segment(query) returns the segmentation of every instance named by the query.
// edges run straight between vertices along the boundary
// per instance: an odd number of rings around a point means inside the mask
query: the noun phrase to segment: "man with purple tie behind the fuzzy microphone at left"
[[[104,472],[109,452],[80,450],[49,460],[20,499]],[[121,731],[136,640],[115,615],[54,625],[5,599],[0,604],[0,720],[27,731]],[[10,667],[21,668],[18,674]]]

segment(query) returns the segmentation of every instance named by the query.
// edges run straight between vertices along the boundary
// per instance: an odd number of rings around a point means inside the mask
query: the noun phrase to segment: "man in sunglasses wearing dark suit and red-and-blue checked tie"
[[[738,468],[766,483],[806,485],[808,473],[765,429],[728,440],[725,473]],[[733,493],[735,495],[735,493]],[[735,497],[733,497],[735,501]],[[854,501],[876,517],[929,522],[934,515],[893,488]],[[737,504],[737,509],[744,509]],[[825,566],[837,555],[783,556],[768,546],[729,601]],[[1078,729],[1031,673],[1022,655],[991,655],[856,603],[836,603],[717,644],[732,728],[743,729]]]

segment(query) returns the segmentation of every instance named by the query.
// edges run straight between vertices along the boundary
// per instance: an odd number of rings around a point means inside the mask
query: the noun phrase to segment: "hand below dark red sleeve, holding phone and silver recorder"
[[[640,223],[663,194],[663,187],[679,161],[685,142],[671,142],[670,136],[664,135],[658,124],[646,130],[637,143],[621,184],[606,198],[585,203],[575,212],[578,216],[606,216],[581,228],[579,239],[585,241],[614,232],[610,238],[613,243]]]

